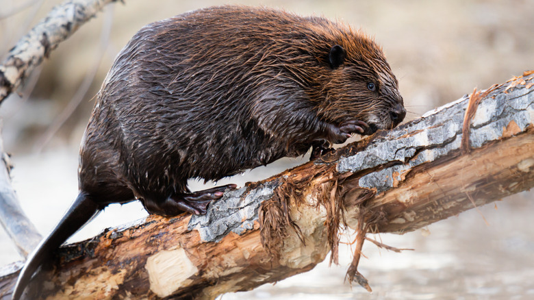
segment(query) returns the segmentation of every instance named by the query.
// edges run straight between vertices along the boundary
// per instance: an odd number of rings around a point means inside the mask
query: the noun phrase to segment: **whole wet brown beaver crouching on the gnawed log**
[[[204,214],[218,180],[283,157],[312,159],[405,117],[398,83],[365,34],[319,16],[219,6],[140,29],[117,55],[81,142],[79,196],[18,277],[19,299],[51,253],[106,205]]]

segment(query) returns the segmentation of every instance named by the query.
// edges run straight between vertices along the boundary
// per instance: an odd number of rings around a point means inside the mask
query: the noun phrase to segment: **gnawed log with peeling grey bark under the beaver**
[[[31,299],[214,299],[312,269],[339,229],[403,234],[534,186],[534,75],[226,192],[207,214],[148,216],[62,247]],[[0,279],[9,297],[15,273]],[[9,299],[9,298],[6,298]]]

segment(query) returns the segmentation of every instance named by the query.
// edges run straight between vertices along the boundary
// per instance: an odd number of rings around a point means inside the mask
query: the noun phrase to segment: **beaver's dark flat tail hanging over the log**
[[[63,242],[75,234],[90,219],[100,212],[101,208],[84,192],[80,192],[71,208],[65,213],[60,223],[44,238],[36,249],[29,255],[24,268],[18,275],[12,299],[19,300],[26,286],[37,269],[53,257],[53,252]]]

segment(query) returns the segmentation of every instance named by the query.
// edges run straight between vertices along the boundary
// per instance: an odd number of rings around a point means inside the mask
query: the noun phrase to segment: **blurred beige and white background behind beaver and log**
[[[61,1],[0,0],[0,58]],[[210,5],[266,5],[320,15],[363,29],[383,46],[400,83],[407,120],[534,68],[532,1],[142,1],[108,5],[51,52],[19,95],[0,107],[5,150],[21,205],[47,234],[77,195],[77,153],[103,78],[114,57],[143,25]],[[219,182],[264,179],[307,158],[280,160]],[[202,189],[198,182],[192,188]],[[275,286],[222,299],[533,299],[533,195],[521,193],[418,232],[379,237],[390,253],[367,243],[359,271],[374,292],[351,288],[340,266],[318,265]],[[483,217],[487,223],[483,220]],[[142,218],[138,203],[111,205],[71,241]],[[21,260],[0,229],[0,266]],[[328,260],[328,259],[327,259]]]

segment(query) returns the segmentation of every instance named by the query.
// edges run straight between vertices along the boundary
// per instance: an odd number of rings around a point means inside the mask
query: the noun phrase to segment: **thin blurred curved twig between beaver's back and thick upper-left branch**
[[[60,115],[57,118],[55,118],[53,123],[48,127],[47,131],[44,132],[44,134],[42,134],[42,138],[40,138],[40,140],[36,142],[36,145],[34,147],[35,151],[37,152],[42,151],[42,149],[53,138],[55,133],[58,132],[58,130],[62,127],[65,121],[73,114],[73,112],[78,107],[79,103],[81,103],[81,101],[85,98],[94,80],[94,77],[97,75],[97,71],[99,69],[100,62],[102,61],[102,58],[107,49],[107,45],[109,45],[110,43],[110,34],[111,34],[112,25],[113,25],[113,16],[114,16],[113,7],[108,8],[105,12],[104,23],[102,26],[99,51],[96,55],[94,63],[92,64],[92,68],[90,69],[90,71],[86,73],[84,80],[81,82],[80,86],[78,87],[78,90],[76,91],[71,101],[66,105],[64,110],[60,113]]]

